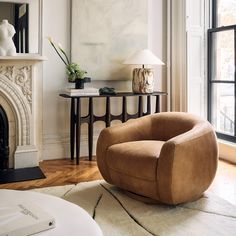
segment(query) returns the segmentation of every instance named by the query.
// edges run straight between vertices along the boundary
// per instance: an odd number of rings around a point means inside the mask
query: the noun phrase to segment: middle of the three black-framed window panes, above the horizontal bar
[[[234,30],[212,33],[211,63],[212,80],[234,80]]]

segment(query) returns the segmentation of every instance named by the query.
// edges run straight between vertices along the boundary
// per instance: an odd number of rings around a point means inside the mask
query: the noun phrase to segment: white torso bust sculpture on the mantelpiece
[[[13,25],[8,20],[2,20],[0,23],[0,56],[15,56],[16,47],[12,37],[16,33]]]

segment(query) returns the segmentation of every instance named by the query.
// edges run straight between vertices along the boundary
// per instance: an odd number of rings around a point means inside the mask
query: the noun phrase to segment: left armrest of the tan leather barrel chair
[[[107,182],[111,183],[106,164],[108,148],[118,143],[151,139],[151,124],[150,117],[141,117],[101,131],[97,141],[97,164]]]

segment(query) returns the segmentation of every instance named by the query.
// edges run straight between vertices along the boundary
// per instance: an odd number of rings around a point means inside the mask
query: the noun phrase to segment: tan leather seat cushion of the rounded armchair
[[[107,151],[108,168],[128,176],[156,181],[158,157],[164,143],[143,140],[114,144]]]

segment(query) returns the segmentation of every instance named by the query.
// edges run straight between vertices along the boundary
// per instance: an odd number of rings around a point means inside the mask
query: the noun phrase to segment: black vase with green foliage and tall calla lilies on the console
[[[88,77],[84,77],[87,71],[80,69],[79,64],[73,63],[69,60],[66,52],[62,48],[61,44],[55,45],[53,39],[48,37],[49,42],[51,43],[52,47],[56,51],[57,55],[61,58],[63,63],[66,65],[66,74],[68,75],[69,82],[75,82],[75,87],[77,89],[83,89],[85,82],[90,82],[91,79]],[[59,50],[58,50],[59,49]],[[84,81],[82,81],[84,80]]]

